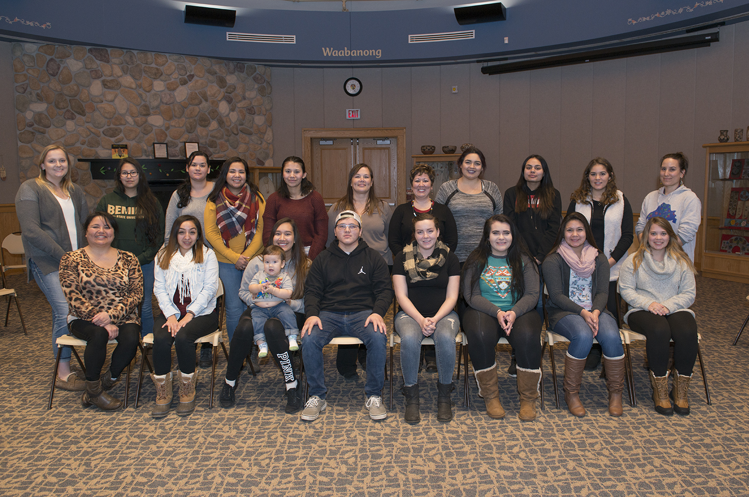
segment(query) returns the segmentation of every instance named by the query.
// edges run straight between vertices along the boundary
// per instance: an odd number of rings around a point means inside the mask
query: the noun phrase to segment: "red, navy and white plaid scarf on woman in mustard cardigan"
[[[234,195],[224,186],[216,198],[216,225],[219,226],[224,245],[229,246],[229,240],[244,231],[244,251],[258,229],[258,198],[243,186],[239,195]]]

